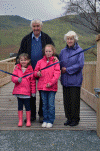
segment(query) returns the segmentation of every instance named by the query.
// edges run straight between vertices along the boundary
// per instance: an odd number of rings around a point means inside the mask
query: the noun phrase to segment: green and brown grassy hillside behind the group
[[[0,22],[0,60],[2,60],[9,58],[10,53],[17,53],[22,38],[32,30],[30,21],[19,16],[0,16]],[[78,34],[78,43],[83,49],[95,44],[94,34],[82,26],[68,23],[65,16],[43,22],[42,31],[52,38],[58,54],[66,46],[63,38],[69,30],[74,30]],[[96,52],[96,48],[93,50]],[[85,60],[96,60],[90,52],[91,50],[85,52]]]

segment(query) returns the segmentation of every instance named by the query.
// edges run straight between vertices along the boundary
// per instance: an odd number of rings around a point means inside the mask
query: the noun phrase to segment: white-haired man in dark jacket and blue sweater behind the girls
[[[38,60],[42,59],[42,49],[45,47],[46,44],[54,45],[52,39],[44,32],[41,31],[42,29],[42,22],[40,20],[32,20],[30,24],[32,28],[32,32],[26,35],[20,45],[20,49],[18,51],[18,55],[16,57],[16,64],[18,63],[18,56],[21,53],[28,53],[31,59],[31,64],[33,69]],[[42,98],[41,92],[40,95],[40,102],[39,102],[39,122],[42,123],[43,120],[43,111],[42,111]],[[36,96],[31,97],[30,101],[31,106],[31,122],[36,120]],[[26,122],[26,120],[25,120]]]

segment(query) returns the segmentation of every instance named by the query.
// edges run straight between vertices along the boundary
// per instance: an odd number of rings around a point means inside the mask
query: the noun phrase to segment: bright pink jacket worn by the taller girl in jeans
[[[54,59],[54,57],[52,56],[48,63],[47,63],[46,56],[44,56],[41,60],[39,60],[34,69],[34,76],[37,77],[37,72],[40,69],[55,63],[55,62],[53,62],[53,59]],[[41,74],[42,74],[42,76],[39,77],[37,89],[44,90],[44,91],[57,91],[58,79],[60,76],[59,63],[56,65],[53,65],[47,69],[42,70]],[[47,83],[49,83],[51,87],[47,88],[46,87]]]

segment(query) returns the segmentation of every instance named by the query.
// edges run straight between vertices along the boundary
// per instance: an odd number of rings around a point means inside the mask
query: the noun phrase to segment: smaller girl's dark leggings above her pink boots
[[[25,105],[25,109],[26,111],[30,111],[30,98],[17,98],[18,100],[18,111],[22,111],[23,110],[23,105]]]

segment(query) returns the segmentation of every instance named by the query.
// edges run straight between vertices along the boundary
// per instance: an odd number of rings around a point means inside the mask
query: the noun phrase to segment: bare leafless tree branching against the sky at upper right
[[[65,3],[65,15],[73,15],[67,21],[80,24],[100,33],[100,0],[61,0]]]

